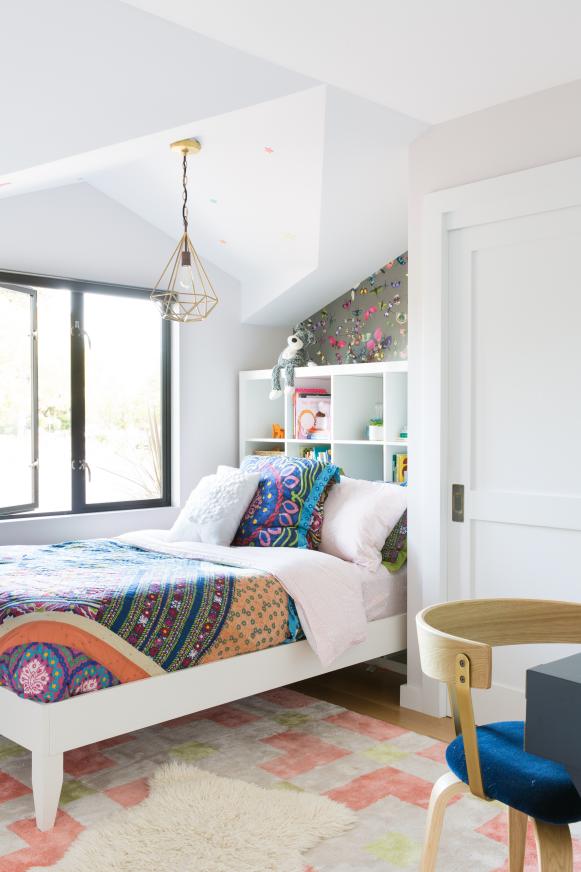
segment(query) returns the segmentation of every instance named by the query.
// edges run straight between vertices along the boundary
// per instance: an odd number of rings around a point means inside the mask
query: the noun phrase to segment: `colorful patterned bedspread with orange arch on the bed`
[[[269,573],[117,540],[0,551],[0,685],[55,702],[293,641]]]

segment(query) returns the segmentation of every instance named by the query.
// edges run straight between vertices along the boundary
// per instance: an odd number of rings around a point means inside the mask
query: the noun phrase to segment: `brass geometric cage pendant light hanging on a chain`
[[[212,282],[188,235],[188,157],[197,154],[201,147],[197,139],[180,139],[171,144],[173,151],[182,154],[184,232],[151,292],[151,299],[157,303],[161,317],[181,324],[203,321],[218,302]]]

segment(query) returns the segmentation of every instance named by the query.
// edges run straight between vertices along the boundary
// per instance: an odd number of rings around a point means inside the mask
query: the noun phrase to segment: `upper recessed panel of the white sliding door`
[[[581,493],[579,214],[575,223],[576,236],[472,251],[475,489]]]

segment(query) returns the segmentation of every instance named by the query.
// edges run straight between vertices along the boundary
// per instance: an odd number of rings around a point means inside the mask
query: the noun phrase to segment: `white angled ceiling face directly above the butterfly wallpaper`
[[[300,280],[285,276],[284,290],[272,282],[244,282],[245,321],[294,324],[406,250],[408,143],[425,128],[414,118],[325,88],[317,263]],[[296,225],[299,234],[304,223]]]

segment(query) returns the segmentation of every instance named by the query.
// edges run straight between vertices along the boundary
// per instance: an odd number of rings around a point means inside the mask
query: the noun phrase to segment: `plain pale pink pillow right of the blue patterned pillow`
[[[325,503],[319,551],[375,572],[406,506],[405,487],[341,476]]]

